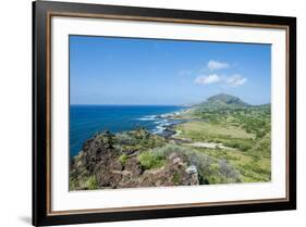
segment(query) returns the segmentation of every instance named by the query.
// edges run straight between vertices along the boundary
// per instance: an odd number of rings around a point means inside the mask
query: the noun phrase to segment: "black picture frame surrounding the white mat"
[[[259,24],[266,26],[285,26],[289,30],[287,42],[287,200],[245,202],[240,204],[197,205],[169,209],[148,209],[112,212],[86,212],[71,214],[49,213],[50,173],[50,85],[48,83],[48,20],[52,15],[119,15],[151,18],[174,20],[178,22],[206,21],[233,25]],[[85,16],[86,17],[86,16]],[[162,20],[161,20],[162,21]],[[174,22],[175,23],[175,22]],[[168,218],[198,215],[217,215],[248,212],[283,211],[296,209],[296,18],[284,16],[249,15],[184,10],[166,10],[152,8],[114,7],[101,4],[33,2],[33,225],[62,225],[96,222],[115,222],[149,218]]]

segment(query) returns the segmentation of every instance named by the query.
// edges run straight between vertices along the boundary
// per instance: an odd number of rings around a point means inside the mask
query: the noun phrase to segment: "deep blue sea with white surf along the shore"
[[[119,133],[145,127],[162,134],[164,127],[178,121],[164,118],[184,108],[164,105],[70,105],[70,155],[76,155],[84,142],[96,133]]]

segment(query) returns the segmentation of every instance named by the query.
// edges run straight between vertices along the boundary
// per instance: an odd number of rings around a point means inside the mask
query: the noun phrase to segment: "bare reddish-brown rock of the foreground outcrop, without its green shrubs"
[[[142,131],[138,137],[147,136]],[[87,140],[71,162],[71,190],[198,185],[195,166],[186,156],[171,153],[160,168],[144,169],[138,157],[113,146],[112,135],[103,133]],[[126,155],[124,161],[121,155]]]

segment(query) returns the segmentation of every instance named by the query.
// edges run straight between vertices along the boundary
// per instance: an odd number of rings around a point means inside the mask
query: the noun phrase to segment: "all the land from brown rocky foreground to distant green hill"
[[[221,93],[158,116],[159,133],[98,133],[71,159],[70,190],[270,181],[270,112]]]

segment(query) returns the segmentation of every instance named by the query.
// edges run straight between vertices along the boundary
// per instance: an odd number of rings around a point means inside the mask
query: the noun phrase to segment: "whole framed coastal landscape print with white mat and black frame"
[[[33,225],[296,207],[296,18],[37,1],[33,28]]]

